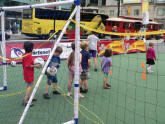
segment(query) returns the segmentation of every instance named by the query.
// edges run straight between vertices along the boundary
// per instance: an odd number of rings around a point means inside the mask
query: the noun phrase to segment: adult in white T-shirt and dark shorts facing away
[[[92,32],[88,38],[87,38],[88,42],[89,42],[89,53],[91,54],[93,60],[94,60],[94,64],[95,64],[95,69],[94,71],[97,71],[97,42],[100,41],[100,39],[95,35],[94,32]]]

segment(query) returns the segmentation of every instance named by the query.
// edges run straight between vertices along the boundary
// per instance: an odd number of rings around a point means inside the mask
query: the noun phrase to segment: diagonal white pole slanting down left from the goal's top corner
[[[73,16],[75,15],[76,11],[77,11],[77,7],[74,9],[74,11],[72,12],[72,14],[71,14],[71,16],[69,17],[69,19],[72,19],[72,18],[73,18]],[[33,89],[33,92],[32,92],[32,94],[31,94],[31,96],[30,96],[30,99],[29,99],[29,101],[28,101],[28,103],[27,103],[27,105],[26,105],[26,107],[25,107],[25,109],[24,109],[24,112],[23,112],[23,114],[22,114],[22,116],[21,116],[21,118],[20,118],[18,124],[22,124],[22,123],[23,123],[23,121],[24,121],[24,119],[25,119],[25,116],[26,116],[26,114],[27,114],[27,111],[28,111],[28,109],[29,109],[29,107],[30,107],[30,104],[31,104],[31,102],[32,102],[32,99],[34,98],[34,95],[36,94],[37,89],[38,89],[38,87],[39,87],[39,85],[40,85],[40,82],[41,82],[41,80],[42,80],[42,78],[43,78],[43,76],[44,76],[44,74],[45,74],[46,68],[47,68],[47,66],[48,66],[48,64],[49,64],[49,62],[50,62],[50,60],[51,60],[51,58],[52,58],[52,56],[53,56],[53,54],[54,54],[54,51],[55,51],[55,49],[56,49],[58,43],[61,41],[62,36],[63,36],[63,34],[65,33],[65,31],[66,31],[66,29],[67,29],[69,23],[70,23],[70,20],[65,24],[65,26],[64,26],[64,28],[63,28],[63,30],[62,30],[60,36],[59,36],[58,39],[57,39],[57,42],[54,44],[54,47],[53,47],[53,49],[52,49],[52,52],[51,52],[50,55],[49,55],[49,58],[48,58],[48,60],[47,60],[47,62],[46,62],[46,64],[45,64],[45,66],[44,66],[44,68],[43,68],[43,70],[42,70],[42,72],[41,72],[40,77],[38,78],[38,81],[37,81],[37,83],[36,83],[36,85],[35,85],[35,87],[34,87],[34,89]]]

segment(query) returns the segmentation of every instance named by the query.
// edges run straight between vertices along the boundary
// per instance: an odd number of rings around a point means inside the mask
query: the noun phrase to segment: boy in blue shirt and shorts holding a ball
[[[54,52],[54,55],[52,56],[51,58],[51,61],[48,65],[48,67],[50,67],[52,70],[54,70],[54,68],[57,68],[59,69],[60,67],[60,55],[62,53],[62,48],[60,46],[58,46]],[[56,88],[57,88],[57,75],[55,76],[50,76],[49,74],[47,74],[47,85],[45,87],[45,93],[43,94],[43,97],[45,99],[50,99],[50,96],[48,94],[49,92],[49,88],[50,88],[50,85],[51,83],[53,83],[53,88],[54,88],[54,91],[53,91],[53,94],[60,94]]]

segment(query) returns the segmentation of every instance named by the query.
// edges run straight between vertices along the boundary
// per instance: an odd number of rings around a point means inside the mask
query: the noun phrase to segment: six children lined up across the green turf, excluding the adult
[[[71,96],[71,87],[72,83],[74,80],[74,75],[75,75],[75,43],[73,42],[72,45],[72,52],[69,55],[67,59],[67,65],[68,65],[68,73],[69,73],[69,79],[68,79],[68,96]],[[88,41],[83,41],[81,42],[81,52],[79,53],[79,72],[80,72],[80,90],[79,90],[79,97],[84,97],[81,93],[87,93],[88,92],[88,79],[89,79],[89,70],[91,68],[91,54],[88,51]],[[25,42],[24,43],[24,49],[25,49],[25,54],[24,58],[22,60],[22,65],[23,65],[23,75],[24,75],[24,80],[27,84],[27,89],[26,89],[26,95],[23,100],[23,105],[26,106],[31,90],[33,87],[33,82],[34,82],[34,68],[41,68],[39,64],[34,64],[31,52],[33,51],[33,43],[32,42]],[[63,52],[62,48],[58,46],[54,52],[53,57],[51,58],[51,61],[48,65],[52,70],[54,68],[59,68],[60,67],[60,55]],[[112,50],[110,48],[105,49],[104,55],[102,57],[101,61],[101,70],[104,74],[104,80],[103,80],[103,88],[104,89],[110,89],[111,85],[108,84],[107,79],[109,76],[109,72],[111,70],[112,66]],[[147,68],[147,72],[151,73],[151,68],[152,65],[155,64],[154,59],[156,60],[156,55],[155,55],[155,50],[154,50],[154,44],[149,43],[149,48],[147,49],[146,52],[146,60],[147,64],[149,64],[149,67]],[[96,67],[96,66],[95,66]],[[95,68],[96,71],[96,68]],[[53,84],[53,94],[60,94],[60,92],[57,91],[57,75],[51,76],[49,74],[47,75],[47,85],[45,88],[45,93],[43,94],[43,97],[45,99],[49,99],[50,95],[48,93],[50,85]],[[83,88],[84,87],[84,88]],[[33,99],[33,101],[36,101],[36,99]],[[33,104],[31,104],[33,106]]]

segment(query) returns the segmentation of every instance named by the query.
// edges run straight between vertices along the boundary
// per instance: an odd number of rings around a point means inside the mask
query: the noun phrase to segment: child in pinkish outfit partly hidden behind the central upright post
[[[75,57],[74,57],[75,56],[75,43],[72,43],[71,47],[72,47],[73,51],[67,59],[68,70],[69,70],[68,94],[67,94],[68,96],[71,96],[71,87],[72,87],[74,74],[75,74]],[[80,58],[80,63],[81,63],[81,59],[82,59],[81,54],[79,54],[79,58]],[[80,71],[81,71],[81,64],[80,64]],[[79,93],[79,97],[84,97],[84,96],[81,93]]]

